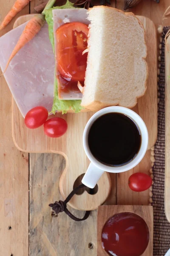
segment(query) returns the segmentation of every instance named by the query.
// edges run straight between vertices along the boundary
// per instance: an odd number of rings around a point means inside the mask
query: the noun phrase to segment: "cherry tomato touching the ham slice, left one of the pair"
[[[30,129],[38,128],[45,123],[48,117],[48,111],[44,107],[32,108],[26,114],[24,122]]]

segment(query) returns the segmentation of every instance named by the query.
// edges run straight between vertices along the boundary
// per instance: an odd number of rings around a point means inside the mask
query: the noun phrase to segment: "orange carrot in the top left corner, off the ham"
[[[8,12],[3,22],[0,25],[0,30],[4,29],[8,23],[20,12],[28,3],[32,0],[16,0],[14,6],[12,6],[11,10]]]

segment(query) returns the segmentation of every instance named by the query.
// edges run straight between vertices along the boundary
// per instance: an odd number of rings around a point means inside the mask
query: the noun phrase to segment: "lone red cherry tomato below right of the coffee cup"
[[[130,189],[132,189],[133,191],[141,192],[150,188],[150,186],[152,185],[152,179],[149,175],[145,173],[137,172],[133,173],[129,177],[128,184]]]

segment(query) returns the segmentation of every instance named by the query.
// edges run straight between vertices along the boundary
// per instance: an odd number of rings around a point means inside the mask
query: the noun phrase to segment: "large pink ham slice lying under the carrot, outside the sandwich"
[[[6,63],[26,23],[0,38],[0,67]],[[4,77],[23,117],[33,107],[51,111],[54,99],[55,60],[48,36],[48,25],[24,46],[9,64]]]

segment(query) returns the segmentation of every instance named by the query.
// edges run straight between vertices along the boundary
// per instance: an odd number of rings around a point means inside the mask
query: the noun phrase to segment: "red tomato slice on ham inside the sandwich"
[[[56,31],[57,68],[67,81],[84,81],[87,67],[88,26],[80,22],[66,23]]]

